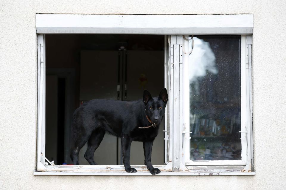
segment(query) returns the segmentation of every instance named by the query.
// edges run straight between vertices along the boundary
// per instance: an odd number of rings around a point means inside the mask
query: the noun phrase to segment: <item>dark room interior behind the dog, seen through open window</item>
[[[51,94],[46,98],[50,107],[46,109],[46,157],[56,165],[71,164],[69,120],[80,104],[91,99],[138,100],[144,89],[158,96],[164,88],[164,36],[46,35],[46,68],[46,92]],[[63,77],[65,70],[74,71],[69,81]],[[83,156],[86,148],[80,151],[80,165],[89,165]],[[94,159],[99,165],[122,165],[120,139],[105,134]],[[154,141],[152,163],[164,164],[163,132]],[[142,142],[131,144],[130,164],[144,165]]]

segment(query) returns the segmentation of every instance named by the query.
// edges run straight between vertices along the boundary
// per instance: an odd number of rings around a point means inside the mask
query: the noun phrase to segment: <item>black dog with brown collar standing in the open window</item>
[[[100,145],[105,132],[121,137],[123,164],[126,172],[137,172],[130,166],[130,146],[133,140],[142,141],[145,165],[153,174],[160,173],[151,164],[152,145],[158,134],[159,124],[168,102],[167,89],[163,88],[158,97],[152,98],[144,90],[143,102],[94,99],[81,105],[74,111],[71,127],[71,160],[78,163],[78,153],[88,141],[84,157],[91,165],[94,151]]]

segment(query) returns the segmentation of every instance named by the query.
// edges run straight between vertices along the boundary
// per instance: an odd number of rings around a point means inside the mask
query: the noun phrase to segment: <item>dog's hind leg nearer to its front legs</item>
[[[105,130],[103,129],[95,129],[91,136],[88,139],[88,147],[86,150],[86,153],[84,154],[84,157],[88,161],[90,165],[97,165],[96,162],[94,162],[94,152],[99,147],[103,137],[105,134]]]

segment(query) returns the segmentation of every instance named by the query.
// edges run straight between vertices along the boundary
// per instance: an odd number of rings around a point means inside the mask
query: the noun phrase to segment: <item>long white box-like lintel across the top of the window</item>
[[[253,15],[36,14],[38,34],[252,34]]]

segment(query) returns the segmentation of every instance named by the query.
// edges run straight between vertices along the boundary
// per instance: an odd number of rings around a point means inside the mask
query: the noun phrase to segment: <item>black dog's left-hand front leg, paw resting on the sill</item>
[[[123,164],[125,167],[125,171],[130,172],[137,172],[135,168],[130,166],[130,147],[131,147],[131,139],[130,137],[123,135],[121,137],[121,147],[122,147],[122,154],[123,154]]]

